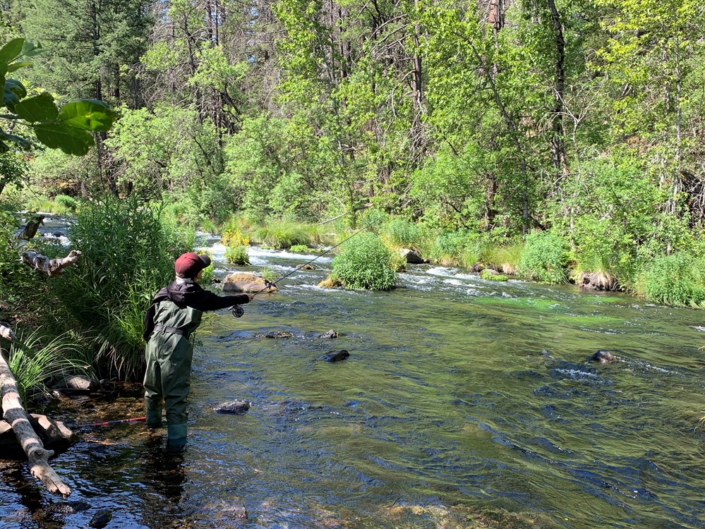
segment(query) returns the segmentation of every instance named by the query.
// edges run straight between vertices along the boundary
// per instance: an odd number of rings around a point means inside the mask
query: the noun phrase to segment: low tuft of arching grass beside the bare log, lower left
[[[44,383],[52,377],[85,372],[90,368],[76,341],[77,337],[68,333],[52,338],[34,331],[26,337],[20,333],[18,340],[10,343],[8,365],[16,376],[23,401],[48,394]]]

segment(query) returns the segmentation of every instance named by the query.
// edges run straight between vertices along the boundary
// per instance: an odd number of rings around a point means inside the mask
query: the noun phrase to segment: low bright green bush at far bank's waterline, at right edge
[[[647,300],[666,305],[705,306],[705,260],[689,253],[656,257],[646,264],[637,291]]]

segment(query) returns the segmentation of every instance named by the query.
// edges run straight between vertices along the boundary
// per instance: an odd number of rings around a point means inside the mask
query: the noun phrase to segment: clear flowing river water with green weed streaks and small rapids
[[[280,275],[311,258],[251,252]],[[181,456],[140,423],[77,427],[52,465],[91,509],[52,513],[4,463],[0,526],[705,527],[705,312],[430,265],[392,292],[325,290],[315,265],[205,317]],[[589,362],[600,348],[617,361]],[[212,411],[234,399],[248,413]],[[141,413],[138,394],[82,406],[64,413]]]

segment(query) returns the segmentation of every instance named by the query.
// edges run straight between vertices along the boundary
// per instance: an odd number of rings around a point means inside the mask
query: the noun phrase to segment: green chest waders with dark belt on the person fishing
[[[147,427],[162,425],[162,401],[167,411],[169,444],[186,444],[186,398],[191,388],[193,346],[189,336],[200,324],[203,312],[180,309],[167,300],[157,305],[155,331],[145,349],[145,407]]]

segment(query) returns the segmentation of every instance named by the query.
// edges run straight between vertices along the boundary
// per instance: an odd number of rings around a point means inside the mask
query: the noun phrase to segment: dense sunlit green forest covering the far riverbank
[[[670,255],[659,274],[701,282],[701,0],[0,5],[5,41],[49,50],[30,85],[122,116],[88,157],[3,154],[0,186],[161,200],[206,228],[364,211],[446,247],[542,238],[605,286]]]

